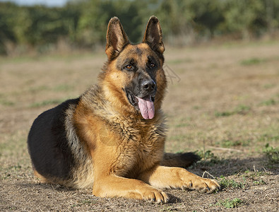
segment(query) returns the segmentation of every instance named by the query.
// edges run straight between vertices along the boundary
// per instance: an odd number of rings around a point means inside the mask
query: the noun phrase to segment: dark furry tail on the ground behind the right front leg
[[[164,153],[161,165],[170,167],[188,167],[198,160],[201,160],[201,158],[194,153]]]

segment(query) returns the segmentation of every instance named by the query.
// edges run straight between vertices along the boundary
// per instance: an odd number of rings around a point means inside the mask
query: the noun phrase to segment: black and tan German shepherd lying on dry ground
[[[118,18],[109,20],[108,59],[97,85],[32,124],[28,151],[42,182],[158,203],[169,200],[161,189],[209,193],[220,187],[183,168],[197,159],[193,153],[164,153],[164,51],[155,16],[138,45],[130,44]]]

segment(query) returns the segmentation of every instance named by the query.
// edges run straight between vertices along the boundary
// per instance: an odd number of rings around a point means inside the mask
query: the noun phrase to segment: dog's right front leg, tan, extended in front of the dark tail
[[[180,167],[157,166],[148,172],[144,172],[139,179],[158,189],[188,188],[196,189],[201,193],[209,193],[220,188],[215,180],[198,177]]]

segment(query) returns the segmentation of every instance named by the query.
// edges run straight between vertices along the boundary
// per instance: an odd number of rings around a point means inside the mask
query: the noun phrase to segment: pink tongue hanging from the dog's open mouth
[[[138,97],[137,97],[138,98]],[[146,98],[138,98],[138,107],[141,110],[141,115],[144,119],[153,119],[155,113],[154,103],[151,100],[151,95]]]

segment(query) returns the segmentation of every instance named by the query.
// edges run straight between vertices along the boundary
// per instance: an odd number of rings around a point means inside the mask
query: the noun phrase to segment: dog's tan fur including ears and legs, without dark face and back
[[[217,182],[183,168],[160,165],[178,164],[172,155],[163,159],[166,126],[161,105],[167,80],[160,54],[164,50],[157,18],[150,18],[143,43],[139,45],[129,44],[118,18],[109,21],[108,62],[100,73],[99,82],[83,93],[78,105],[66,111],[66,136],[78,163],[78,168],[72,170],[73,179],[67,184],[77,188],[93,187],[95,196],[123,196],[162,203],[169,198],[160,189],[190,188],[212,192],[219,187]],[[127,57],[145,67],[150,55],[159,61],[155,75],[155,116],[143,119],[129,103],[123,89],[137,73],[128,74],[117,67]]]

